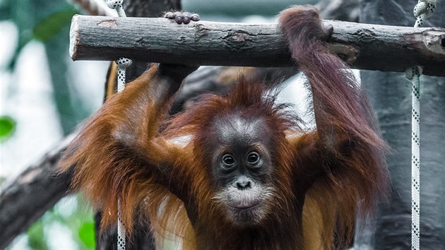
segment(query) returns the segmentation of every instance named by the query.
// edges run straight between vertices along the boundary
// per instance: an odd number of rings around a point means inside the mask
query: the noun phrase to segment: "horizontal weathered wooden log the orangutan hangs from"
[[[410,66],[445,76],[445,28],[412,28],[324,20],[333,26],[330,49],[356,69],[403,72]],[[186,65],[292,66],[279,25],[165,18],[74,16],[73,60],[115,60]]]

